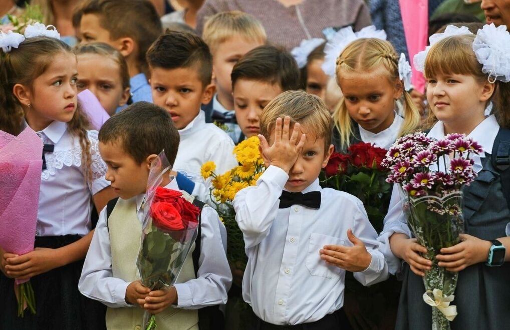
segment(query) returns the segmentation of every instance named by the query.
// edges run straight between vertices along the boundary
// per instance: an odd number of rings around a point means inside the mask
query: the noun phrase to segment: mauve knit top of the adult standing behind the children
[[[363,0],[206,0],[197,14],[198,34],[206,17],[232,10],[259,19],[268,41],[289,50],[303,39],[324,38],[325,28],[351,26],[359,31],[371,23]]]

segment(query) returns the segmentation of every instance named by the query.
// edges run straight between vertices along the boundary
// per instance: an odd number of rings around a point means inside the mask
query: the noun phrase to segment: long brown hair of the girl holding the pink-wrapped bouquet
[[[24,113],[13,93],[14,85],[21,84],[32,89],[34,80],[46,71],[56,55],[62,53],[73,55],[71,48],[59,39],[35,37],[25,39],[11,52],[0,55],[0,130],[12,135],[20,133]],[[88,181],[92,179],[89,128],[89,119],[78,103],[73,117],[67,123],[67,130],[80,140],[82,167]]]

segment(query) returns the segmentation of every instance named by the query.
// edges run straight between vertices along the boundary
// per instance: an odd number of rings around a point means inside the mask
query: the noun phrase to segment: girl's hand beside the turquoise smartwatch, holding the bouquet
[[[461,234],[461,243],[441,249],[437,255],[438,266],[448,271],[461,271],[464,268],[487,261],[492,243],[477,237]]]

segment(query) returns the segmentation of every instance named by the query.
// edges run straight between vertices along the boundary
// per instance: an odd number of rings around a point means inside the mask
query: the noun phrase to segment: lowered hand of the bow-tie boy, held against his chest
[[[349,229],[347,237],[353,246],[325,245],[320,250],[320,257],[328,264],[343,268],[347,271],[363,271],[370,266],[372,255],[368,253],[365,244]]]

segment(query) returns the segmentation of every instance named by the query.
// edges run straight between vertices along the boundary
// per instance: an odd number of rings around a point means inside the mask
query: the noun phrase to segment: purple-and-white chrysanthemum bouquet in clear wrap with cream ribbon
[[[464,231],[462,188],[476,176],[473,155],[482,152],[464,134],[432,140],[418,132],[399,138],[383,165],[391,170],[387,182],[399,184],[407,223],[418,243],[426,247],[432,267],[425,272],[423,300],[432,306],[432,328],[449,329],[456,316],[454,298],[458,273],[438,266],[443,247],[460,242]]]

